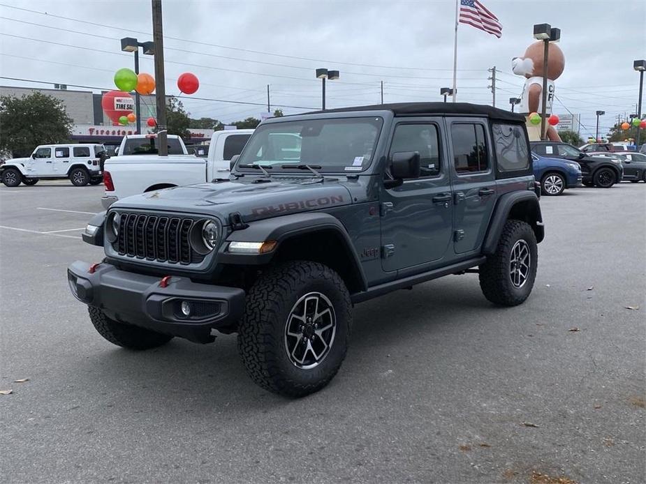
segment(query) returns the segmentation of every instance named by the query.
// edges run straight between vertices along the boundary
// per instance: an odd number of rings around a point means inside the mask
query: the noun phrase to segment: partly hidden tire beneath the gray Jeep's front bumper
[[[98,334],[113,345],[128,349],[151,349],[166,345],[172,336],[155,333],[139,326],[124,324],[110,319],[99,308],[88,306],[89,319]]]

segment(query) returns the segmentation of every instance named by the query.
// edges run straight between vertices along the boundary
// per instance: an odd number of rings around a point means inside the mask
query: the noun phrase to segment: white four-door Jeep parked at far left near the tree
[[[0,180],[8,187],[61,178],[75,186],[98,185],[105,156],[103,144],[43,144],[29,158],[13,158],[1,165]]]

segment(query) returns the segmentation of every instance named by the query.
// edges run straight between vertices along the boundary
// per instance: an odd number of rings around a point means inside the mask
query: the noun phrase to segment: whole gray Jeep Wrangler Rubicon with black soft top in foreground
[[[543,240],[520,115],[462,103],[334,109],[264,121],[228,179],[119,200],[68,281],[103,338],[148,349],[237,332],[244,366],[292,397],[342,364],[352,306],[477,272],[522,303]]]

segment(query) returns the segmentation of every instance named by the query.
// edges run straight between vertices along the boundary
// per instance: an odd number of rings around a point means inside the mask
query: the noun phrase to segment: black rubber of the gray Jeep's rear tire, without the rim
[[[530,285],[530,290],[524,296],[519,296],[509,290],[511,281],[508,281],[508,257],[514,243],[517,241],[518,232],[527,232],[527,234],[524,234],[527,235],[524,239],[529,245],[534,245],[534,250],[536,250],[536,236],[529,224],[521,220],[510,219],[505,222],[496,252],[490,255],[490,257],[487,257],[487,262],[480,266],[480,289],[482,289],[488,301],[497,305],[515,306],[523,303],[529,296],[531,287],[534,286],[533,279],[527,280],[526,284]],[[530,274],[533,273],[535,278],[538,257],[534,257],[534,260],[531,262],[534,264],[534,269],[530,271]]]

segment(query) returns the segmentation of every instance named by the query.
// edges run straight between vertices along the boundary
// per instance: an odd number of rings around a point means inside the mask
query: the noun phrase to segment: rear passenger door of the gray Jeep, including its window
[[[492,145],[485,120],[452,119],[451,185],[453,248],[456,254],[478,250],[496,203]]]

